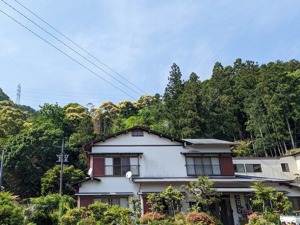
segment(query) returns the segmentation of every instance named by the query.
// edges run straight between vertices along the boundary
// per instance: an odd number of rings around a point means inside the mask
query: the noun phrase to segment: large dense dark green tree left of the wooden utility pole
[[[3,186],[21,197],[40,194],[40,178],[52,168],[63,131],[49,122],[34,124],[6,143]]]

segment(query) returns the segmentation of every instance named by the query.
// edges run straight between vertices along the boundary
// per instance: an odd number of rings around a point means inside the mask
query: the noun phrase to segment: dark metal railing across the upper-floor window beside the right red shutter
[[[220,165],[185,165],[188,176],[221,175]]]

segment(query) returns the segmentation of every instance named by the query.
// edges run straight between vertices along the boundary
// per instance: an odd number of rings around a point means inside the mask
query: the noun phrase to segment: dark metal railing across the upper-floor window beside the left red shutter
[[[125,176],[128,171],[139,176],[139,165],[105,165],[105,176]]]

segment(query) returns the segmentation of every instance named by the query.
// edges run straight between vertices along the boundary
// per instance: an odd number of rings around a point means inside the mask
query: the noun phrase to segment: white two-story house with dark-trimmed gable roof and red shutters
[[[128,199],[135,197],[145,213],[149,210],[147,194],[163,191],[171,184],[185,195],[182,210],[186,211],[192,202],[180,185],[196,180],[198,175],[208,175],[215,180],[215,189],[222,192],[221,200],[209,211],[224,225],[238,224],[241,207],[251,203],[253,189],[249,186],[253,181],[260,180],[290,196],[299,195],[297,188],[288,186],[292,175],[257,175],[258,162],[239,158],[232,162],[230,146],[235,144],[218,139],[178,139],[135,126],[84,144],[90,175],[71,185],[78,206],[101,201],[127,207]],[[240,164],[245,165],[247,173]],[[253,164],[251,169],[248,164]],[[132,174],[129,179],[125,177],[127,171]]]

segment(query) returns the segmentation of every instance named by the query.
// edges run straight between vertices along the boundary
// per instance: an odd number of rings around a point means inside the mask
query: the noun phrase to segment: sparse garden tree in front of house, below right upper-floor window
[[[192,209],[199,211],[199,204],[208,206],[219,200],[221,192],[217,192],[213,188],[214,180],[209,180],[208,176],[198,176],[196,181],[190,181],[188,184],[182,184],[180,188],[184,188],[188,193],[191,201],[195,201]]]

